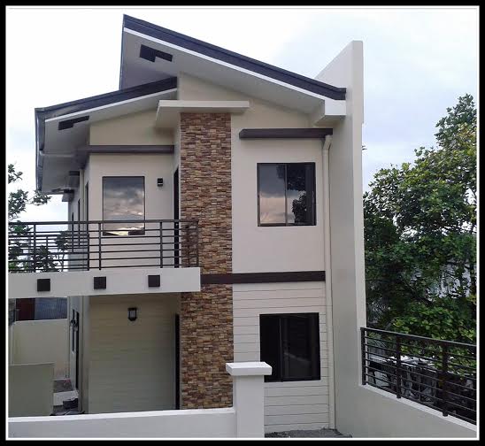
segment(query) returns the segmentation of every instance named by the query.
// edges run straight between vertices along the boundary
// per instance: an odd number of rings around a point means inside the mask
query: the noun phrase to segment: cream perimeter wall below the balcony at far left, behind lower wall
[[[54,378],[68,376],[67,319],[19,320],[12,324],[12,364],[54,364]]]

